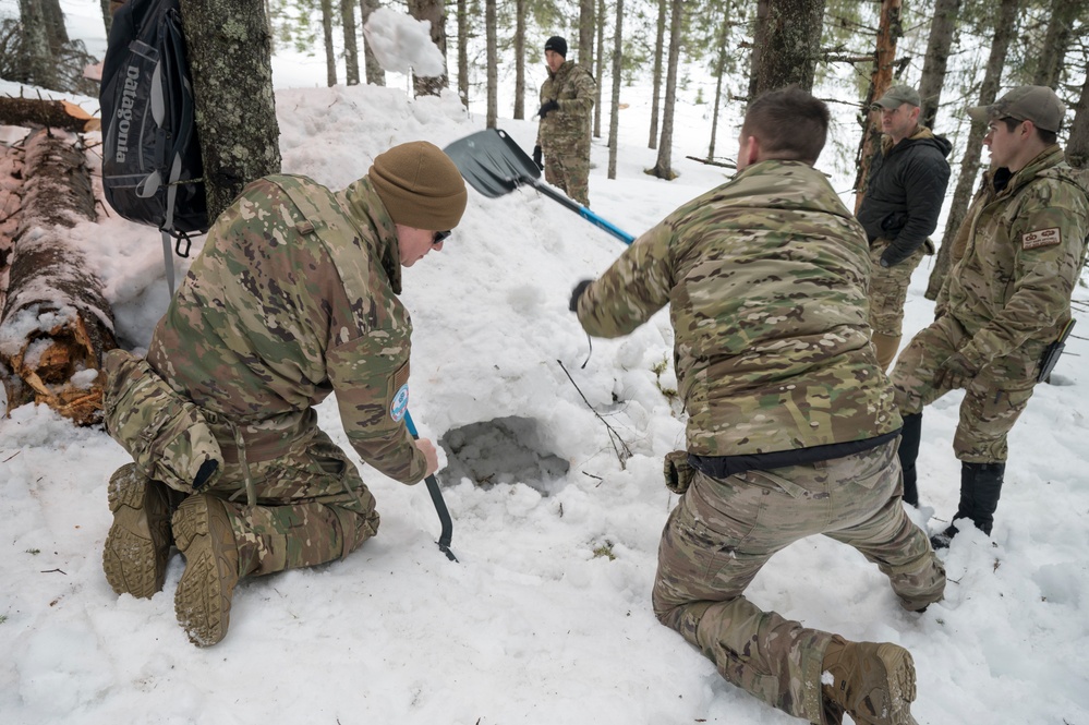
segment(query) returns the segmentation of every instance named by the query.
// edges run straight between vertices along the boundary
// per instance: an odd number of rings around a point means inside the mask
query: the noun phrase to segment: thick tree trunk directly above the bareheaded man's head
[[[791,84],[812,90],[824,0],[761,0],[757,13],[753,46],[760,51],[752,56],[750,101]]]

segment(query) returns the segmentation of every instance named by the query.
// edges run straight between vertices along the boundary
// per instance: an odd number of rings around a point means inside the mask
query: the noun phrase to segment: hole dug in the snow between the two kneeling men
[[[543,496],[555,493],[571,466],[544,449],[541,426],[530,418],[499,418],[447,431],[439,438],[447,466],[443,483],[469,479],[489,488],[497,483],[524,483]]]

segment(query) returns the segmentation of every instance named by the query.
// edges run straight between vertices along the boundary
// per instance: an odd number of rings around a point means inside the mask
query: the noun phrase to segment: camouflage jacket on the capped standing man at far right
[[[1089,191],[1063,149],[1003,171],[969,210],[964,254],[939,298],[971,338],[960,352],[976,365],[1012,352],[1038,360],[1070,318],[1086,259]]]

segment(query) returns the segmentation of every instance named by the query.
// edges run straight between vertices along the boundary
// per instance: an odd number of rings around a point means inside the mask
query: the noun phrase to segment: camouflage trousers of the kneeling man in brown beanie
[[[377,532],[374,496],[355,466],[316,425],[285,442],[275,458],[247,461],[257,504],[251,508],[246,471],[237,455],[228,452],[233,450],[229,426],[214,415],[209,419],[228,461],[205,493],[227,502],[243,573],[342,558]]]

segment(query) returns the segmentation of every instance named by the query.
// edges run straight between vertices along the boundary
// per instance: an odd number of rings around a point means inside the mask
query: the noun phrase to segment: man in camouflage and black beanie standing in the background
[[[597,84],[590,71],[567,60],[567,40],[559,36],[545,43],[545,63],[533,161],[544,169],[545,181],[590,206],[590,111]]]

